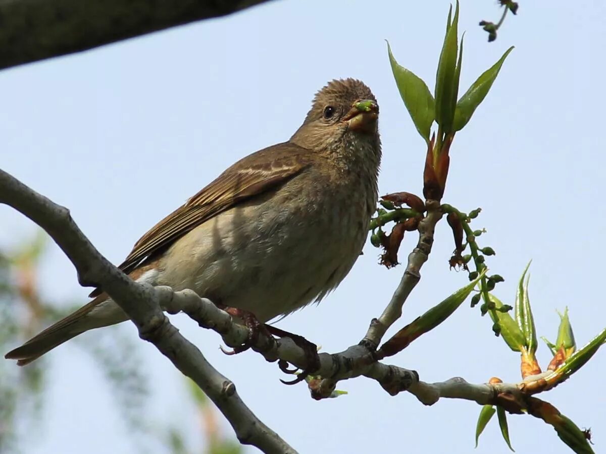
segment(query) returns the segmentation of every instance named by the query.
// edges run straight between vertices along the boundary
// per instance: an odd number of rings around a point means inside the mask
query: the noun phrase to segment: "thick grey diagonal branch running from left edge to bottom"
[[[139,336],[155,344],[208,395],[242,444],[251,444],[265,453],[296,453],[244,404],[233,382],[211,366],[200,350],[168,321],[161,310],[162,292],[136,283],[108,262],[78,228],[67,208],[56,205],[2,170],[0,203],[12,206],[47,231],[72,261],[81,285],[101,286],[133,320]]]

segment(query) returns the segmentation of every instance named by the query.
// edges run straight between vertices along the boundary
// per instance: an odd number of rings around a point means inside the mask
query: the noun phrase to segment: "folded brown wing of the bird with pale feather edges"
[[[217,214],[282,185],[310,165],[311,152],[279,143],[239,160],[139,239],[119,268],[125,273]],[[96,289],[91,297],[99,295]]]

